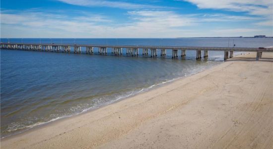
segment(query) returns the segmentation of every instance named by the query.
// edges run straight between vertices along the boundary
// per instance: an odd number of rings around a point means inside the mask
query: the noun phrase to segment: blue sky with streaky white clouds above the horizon
[[[273,36],[273,0],[0,0],[1,38]]]

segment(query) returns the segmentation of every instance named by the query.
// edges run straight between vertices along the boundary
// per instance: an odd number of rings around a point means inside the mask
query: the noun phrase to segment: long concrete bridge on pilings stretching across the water
[[[208,57],[208,51],[223,51],[224,60],[233,57],[233,52],[257,52],[256,60],[262,58],[263,52],[273,52],[273,47],[266,48],[229,48],[229,47],[184,47],[184,46],[130,46],[130,45],[93,45],[93,44],[39,44],[39,43],[1,43],[0,49],[9,50],[26,50],[26,51],[44,51],[44,52],[64,52],[79,54],[82,53],[82,47],[85,48],[86,54],[94,54],[94,48],[97,48],[99,55],[107,55],[108,49],[112,50],[114,55],[122,55],[122,50],[126,49],[126,55],[138,56],[139,49],[142,50],[142,55],[148,55],[150,51],[150,57],[157,57],[157,51],[160,50],[160,56],[166,55],[166,50],[172,51],[172,58],[177,59],[178,53],[180,52],[181,57],[186,56],[187,50],[196,51],[196,60],[202,59],[202,51],[204,52],[203,57]]]

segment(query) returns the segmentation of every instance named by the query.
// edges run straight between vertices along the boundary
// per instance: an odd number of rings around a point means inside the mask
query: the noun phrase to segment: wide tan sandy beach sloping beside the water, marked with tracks
[[[263,57],[4,138],[1,149],[273,149],[273,54]]]

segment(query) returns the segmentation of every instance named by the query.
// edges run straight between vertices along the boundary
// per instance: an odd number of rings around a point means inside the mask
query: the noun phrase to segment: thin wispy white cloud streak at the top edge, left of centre
[[[97,6],[97,7],[113,7],[122,9],[140,9],[140,8],[159,8],[160,6],[137,4],[123,1],[110,1],[110,0],[58,0],[64,3],[80,5],[80,6]]]

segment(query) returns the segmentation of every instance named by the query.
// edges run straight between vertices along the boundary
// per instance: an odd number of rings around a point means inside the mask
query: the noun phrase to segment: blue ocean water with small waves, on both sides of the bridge
[[[267,47],[272,38],[176,39],[1,39],[1,42],[108,45],[165,45]],[[140,55],[107,56],[55,52],[0,50],[1,138],[60,118],[77,115],[125,99],[172,80],[223,63],[223,52],[210,52],[196,61],[186,57],[150,58]],[[160,55],[160,51],[158,51]],[[202,53],[203,54],[203,53]],[[179,53],[180,55],[180,53]]]

